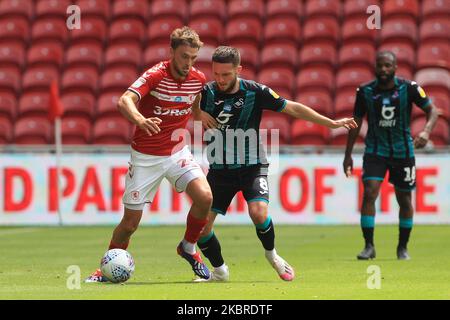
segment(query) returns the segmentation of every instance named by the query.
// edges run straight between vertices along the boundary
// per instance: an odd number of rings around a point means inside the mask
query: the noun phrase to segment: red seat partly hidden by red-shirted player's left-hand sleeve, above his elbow
[[[127,88],[136,80],[138,72],[132,67],[114,67],[107,69],[100,77],[100,90],[127,90]]]

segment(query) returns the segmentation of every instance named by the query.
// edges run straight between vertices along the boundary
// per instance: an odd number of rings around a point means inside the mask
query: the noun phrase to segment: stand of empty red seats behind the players
[[[71,4],[82,10],[81,29],[66,27]],[[381,30],[367,28],[369,5],[383,12]],[[397,75],[417,81],[442,110],[434,143],[448,144],[449,15],[442,0],[3,0],[0,144],[52,142],[44,118],[54,79],[64,107],[64,143],[127,143],[131,130],[115,131],[125,125],[115,101],[142,72],[168,58],[170,33],[183,25],[205,43],[196,66],[208,80],[213,49],[233,45],[241,51],[242,77],[330,117],[351,116],[356,87],[374,78],[376,51],[392,50]],[[42,125],[33,125],[40,119]],[[424,121],[419,108],[412,121],[414,128]],[[344,141],[339,132],[265,112],[261,126],[277,125],[286,144]],[[35,128],[44,134],[33,137]]]

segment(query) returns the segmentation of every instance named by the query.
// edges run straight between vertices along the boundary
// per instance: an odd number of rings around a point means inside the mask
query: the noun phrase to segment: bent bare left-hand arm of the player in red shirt
[[[145,118],[136,107],[138,101],[138,95],[128,90],[119,98],[117,108],[125,118],[147,132],[149,136],[157,134],[161,131],[158,126],[161,119],[157,117]]]

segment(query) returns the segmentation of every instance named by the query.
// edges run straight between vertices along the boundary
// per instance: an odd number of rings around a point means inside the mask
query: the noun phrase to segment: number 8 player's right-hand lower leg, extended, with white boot
[[[267,202],[250,201],[248,210],[250,218],[256,226],[256,235],[265,249],[267,261],[282,280],[292,281],[295,277],[294,269],[275,250],[275,230],[272,218],[268,214]]]

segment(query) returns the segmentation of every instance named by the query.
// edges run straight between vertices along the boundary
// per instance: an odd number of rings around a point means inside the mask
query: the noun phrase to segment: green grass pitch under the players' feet
[[[227,283],[193,283],[176,255],[184,227],[141,227],[129,251],[136,261],[123,285],[85,284],[68,289],[67,268],[84,280],[98,267],[113,227],[0,228],[0,299],[450,299],[450,226],[415,226],[410,261],[397,261],[397,226],[377,226],[377,259],[357,261],[359,226],[276,226],[278,253],[295,268],[283,282],[264,258],[252,226],[216,226]],[[368,289],[378,266],[381,288]]]

